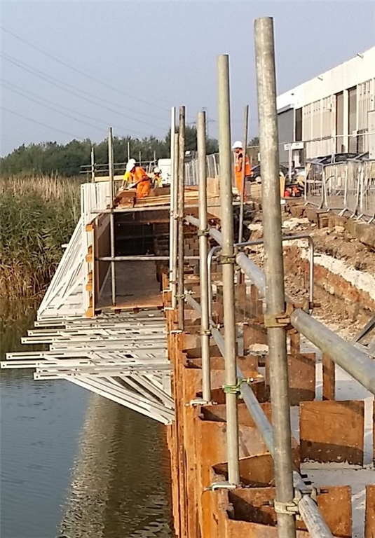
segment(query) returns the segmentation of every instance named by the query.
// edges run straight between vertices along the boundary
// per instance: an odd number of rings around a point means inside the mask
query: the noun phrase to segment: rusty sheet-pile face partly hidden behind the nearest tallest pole
[[[298,406],[301,401],[315,399],[315,353],[288,354],[289,402]],[[266,356],[266,385],[270,386],[269,357]]]

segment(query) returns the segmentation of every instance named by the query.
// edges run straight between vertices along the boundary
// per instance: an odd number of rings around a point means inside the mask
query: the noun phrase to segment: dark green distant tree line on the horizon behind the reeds
[[[186,151],[196,151],[196,127],[186,125],[185,132]],[[170,156],[170,131],[165,139],[156,137],[144,139],[132,137],[114,138],[114,162],[124,163],[128,158],[128,143],[130,143],[130,156],[138,160],[139,152],[142,161]],[[95,164],[108,163],[108,141],[93,143],[90,139],[83,141],[71,140],[67,144],[57,142],[43,142],[41,144],[22,144],[8,156],[0,159],[0,175],[2,177],[51,175],[58,174],[64,177],[73,177],[81,173],[84,165],[90,165],[91,148],[94,148]],[[218,144],[216,139],[207,139],[207,153],[216,153]]]

